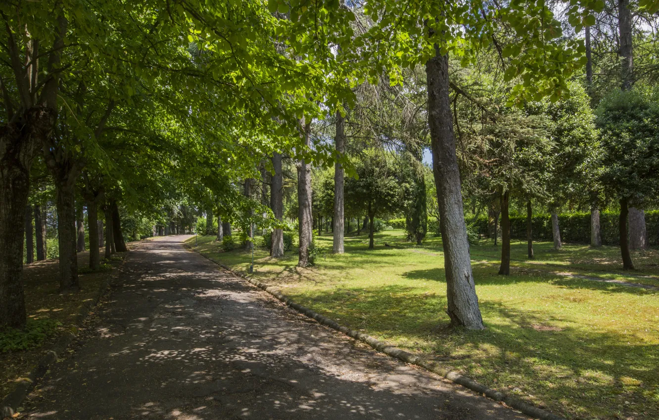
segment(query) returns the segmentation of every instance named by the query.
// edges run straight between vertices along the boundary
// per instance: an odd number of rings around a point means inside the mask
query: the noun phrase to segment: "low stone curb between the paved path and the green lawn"
[[[190,246],[187,244],[184,244],[186,248],[190,249],[190,251],[194,251]],[[339,332],[342,332],[343,334],[355,338],[355,340],[359,340],[361,342],[364,342],[374,348],[375,350],[378,350],[378,352],[382,352],[384,354],[387,354],[391,357],[395,357],[397,359],[400,359],[404,361],[405,363],[411,363],[413,365],[417,365],[419,367],[422,367],[432,373],[436,373],[437,375],[440,375],[441,377],[444,377],[445,379],[448,379],[449,381],[459,384],[461,386],[464,386],[465,388],[468,388],[474,392],[477,392],[478,394],[482,394],[483,396],[486,396],[496,402],[502,402],[508,407],[511,407],[513,409],[516,409],[518,411],[521,411],[522,413],[529,415],[530,417],[534,419],[540,419],[540,420],[566,420],[565,417],[561,417],[559,415],[556,415],[554,413],[550,413],[549,411],[546,411],[542,408],[538,408],[536,406],[532,406],[530,404],[527,404],[525,402],[522,402],[520,400],[517,400],[516,398],[512,398],[511,396],[508,396],[506,394],[503,394],[502,392],[499,392],[497,390],[493,390],[492,388],[488,388],[487,386],[480,384],[473,379],[469,379],[463,375],[460,375],[459,373],[455,371],[449,371],[449,369],[445,369],[444,367],[441,367],[438,365],[438,363],[435,363],[434,361],[429,361],[426,359],[423,359],[422,357],[419,357],[418,355],[411,354],[409,352],[405,352],[405,350],[402,350],[400,348],[394,347],[394,346],[389,346],[388,344],[381,342],[380,340],[377,340],[376,338],[373,338],[372,336],[369,336],[368,334],[364,334],[363,332],[358,332],[355,330],[351,330],[350,328],[343,327],[343,325],[339,325],[336,321],[333,319],[329,319],[328,317],[324,317],[323,315],[320,315],[320,313],[316,313],[312,311],[311,309],[308,309],[299,303],[295,303],[291,298],[288,296],[281,294],[276,288],[273,286],[268,286],[267,284],[257,282],[253,278],[250,278],[247,275],[244,275],[243,273],[239,273],[237,271],[233,271],[226,265],[222,263],[218,263],[217,261],[214,261],[210,259],[209,257],[206,257],[206,255],[203,255],[202,253],[197,252],[199,255],[202,255],[202,257],[208,259],[208,261],[212,261],[213,263],[219,265],[223,269],[229,271],[229,273],[239,276],[240,278],[243,278],[244,280],[250,282],[254,286],[265,290],[277,300],[280,300],[283,303],[286,303],[286,305],[289,305],[296,311],[302,313],[303,315],[306,315],[309,318],[315,319],[318,321],[318,323],[322,325],[326,325],[329,328],[332,328],[333,330],[337,330]]]

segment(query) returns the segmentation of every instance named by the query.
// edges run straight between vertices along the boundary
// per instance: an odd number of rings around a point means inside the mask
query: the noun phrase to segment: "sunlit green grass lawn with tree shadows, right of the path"
[[[634,252],[639,271],[625,273],[614,247],[539,243],[529,263],[526,244],[515,242],[513,274],[499,276],[500,247],[482,240],[471,252],[486,329],[465,331],[448,327],[441,240],[404,239],[401,230],[382,232],[369,250],[367,236],[349,237],[345,254],[309,269],[296,267],[293,251],[276,260],[257,248],[253,276],[343,325],[566,417],[659,418],[659,291],[551,273],[659,285],[659,251]],[[331,234],[318,244],[331,250]],[[223,252],[212,236],[195,249],[249,267],[248,252]]]

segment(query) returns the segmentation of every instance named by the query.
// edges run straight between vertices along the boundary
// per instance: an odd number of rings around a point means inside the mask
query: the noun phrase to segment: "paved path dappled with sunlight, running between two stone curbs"
[[[21,418],[527,418],[302,317],[186,238],[138,244]]]

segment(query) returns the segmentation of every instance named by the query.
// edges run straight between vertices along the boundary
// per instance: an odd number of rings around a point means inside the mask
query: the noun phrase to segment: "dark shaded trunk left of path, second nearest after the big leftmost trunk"
[[[59,292],[80,290],[75,195],[72,187],[57,182],[57,234],[59,244]]]

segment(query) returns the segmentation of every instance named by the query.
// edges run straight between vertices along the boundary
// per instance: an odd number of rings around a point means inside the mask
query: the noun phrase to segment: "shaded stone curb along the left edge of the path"
[[[130,251],[129,251],[130,253]],[[88,299],[82,302],[78,313],[74,317],[74,323],[71,325],[71,330],[68,330],[60,336],[55,345],[46,352],[46,354],[40,359],[36,367],[32,369],[32,372],[26,377],[18,381],[16,387],[13,391],[9,392],[7,396],[0,403],[0,419],[5,417],[13,417],[16,413],[16,409],[23,402],[25,397],[28,395],[30,390],[37,384],[37,382],[45,375],[48,367],[55,361],[57,361],[57,356],[62,354],[64,350],[71,344],[72,340],[78,336],[78,329],[82,327],[82,323],[89,316],[90,311],[98,304],[98,301],[101,300],[105,292],[110,286],[111,281],[119,275],[121,267],[123,267],[126,259],[128,258],[128,253],[125,255],[121,265],[117,267],[117,272],[112,273],[108,278],[103,280],[101,287],[98,289],[94,298]]]

